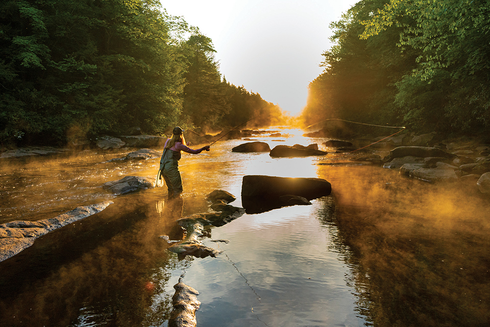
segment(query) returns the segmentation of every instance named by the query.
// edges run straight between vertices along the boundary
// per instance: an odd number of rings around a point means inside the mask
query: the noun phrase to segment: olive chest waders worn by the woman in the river
[[[158,170],[157,182],[160,178],[165,180],[168,189],[168,197],[175,197],[183,192],[182,177],[179,171],[180,151],[170,149],[163,150],[160,159],[160,169]]]

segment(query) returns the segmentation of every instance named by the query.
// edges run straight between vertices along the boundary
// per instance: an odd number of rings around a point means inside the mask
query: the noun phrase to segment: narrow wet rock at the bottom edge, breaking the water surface
[[[179,279],[179,283],[174,285],[175,294],[172,297],[174,309],[168,319],[169,327],[195,327],[197,321],[195,312],[199,310],[201,302],[197,295],[199,292],[190,286],[185,285]]]

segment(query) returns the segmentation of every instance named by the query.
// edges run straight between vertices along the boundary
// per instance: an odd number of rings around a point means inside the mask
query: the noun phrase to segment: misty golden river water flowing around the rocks
[[[280,132],[254,139],[326,150],[325,139]],[[167,200],[165,187],[117,197],[102,189],[124,176],[156,175],[159,159],[111,161],[128,149],[3,160],[0,223],[114,203],[0,263],[0,325],[166,326],[181,277],[200,293],[199,327],[490,324],[485,198],[352,161],[365,153],[231,152],[243,142],[183,155],[182,205]],[[241,179],[251,174],[325,178],[332,195],[210,229],[203,243],[224,251],[217,258],[180,260],[166,250],[160,236],[181,239],[175,221],[210,212],[213,190],[241,206]]]

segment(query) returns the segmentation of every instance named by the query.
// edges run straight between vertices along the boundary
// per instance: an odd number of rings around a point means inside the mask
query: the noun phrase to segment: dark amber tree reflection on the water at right
[[[359,308],[375,326],[490,323],[490,204],[461,184],[427,184],[365,167],[321,167],[354,255]],[[328,221],[330,223],[330,221]],[[339,247],[341,248],[341,247]]]

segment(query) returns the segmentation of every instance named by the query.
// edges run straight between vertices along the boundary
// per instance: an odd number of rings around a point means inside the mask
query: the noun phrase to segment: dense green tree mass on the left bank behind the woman
[[[4,146],[217,129],[249,112],[222,81],[212,40],[158,1],[5,0],[0,18]]]

